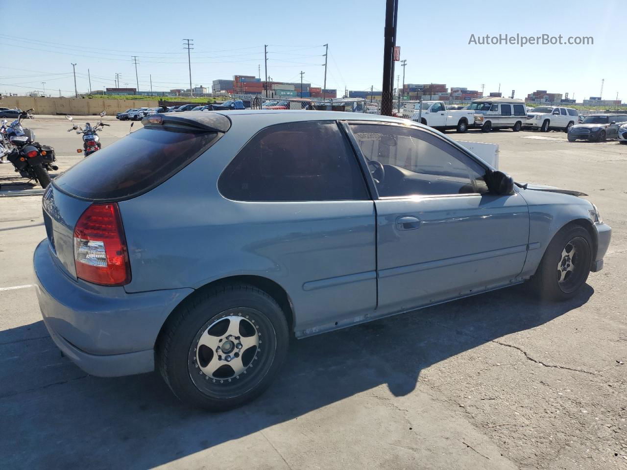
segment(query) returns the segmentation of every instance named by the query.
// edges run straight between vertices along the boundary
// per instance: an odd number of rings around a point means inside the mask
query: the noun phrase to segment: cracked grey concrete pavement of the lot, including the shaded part
[[[103,145],[128,132],[107,122]],[[81,159],[62,118],[28,124],[61,169]],[[100,379],[61,357],[28,287],[40,197],[0,197],[0,468],[626,468],[627,145],[451,137],[499,144],[520,182],[589,194],[613,227],[604,270],[567,303],[515,286],[293,342],[268,392],[223,414],[156,373]]]

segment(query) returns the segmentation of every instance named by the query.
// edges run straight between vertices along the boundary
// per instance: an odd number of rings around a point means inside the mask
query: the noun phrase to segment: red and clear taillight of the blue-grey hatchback
[[[74,228],[76,276],[103,286],[130,282],[129,253],[118,205],[92,204]]]

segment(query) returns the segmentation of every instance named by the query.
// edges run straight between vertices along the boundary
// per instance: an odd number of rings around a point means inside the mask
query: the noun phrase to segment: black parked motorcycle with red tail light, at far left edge
[[[29,128],[22,127],[21,121],[24,118],[33,118],[29,114],[31,111],[32,109],[21,112],[19,117],[6,127],[6,139],[13,145],[6,157],[22,177],[35,180],[45,188],[50,184],[48,172],[56,171],[59,167],[53,165],[56,162],[55,149],[50,145],[36,142],[35,133]]]

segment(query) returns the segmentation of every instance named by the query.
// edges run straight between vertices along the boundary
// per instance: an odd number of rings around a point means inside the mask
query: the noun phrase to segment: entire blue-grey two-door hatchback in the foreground
[[[445,135],[377,115],[157,114],[53,180],[34,270],[56,345],[93,375],[155,368],[223,410],[303,338],[603,267],[581,193],[514,183]]]

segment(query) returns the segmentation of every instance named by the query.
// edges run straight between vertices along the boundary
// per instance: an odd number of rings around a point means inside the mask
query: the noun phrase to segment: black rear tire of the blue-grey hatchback
[[[235,368],[229,365],[231,359],[224,355],[224,350],[219,351],[219,345],[228,343],[228,336],[224,337],[224,342],[223,338],[216,343],[218,348],[215,352],[200,342],[204,337],[218,338],[218,335],[209,335],[209,331],[221,328],[225,321],[230,328],[229,318],[236,318],[238,323],[246,323],[249,327],[256,326],[256,330],[251,328],[252,335],[258,335],[258,345],[252,355],[248,355],[250,362],[238,375],[235,375]],[[219,334],[226,335],[228,332],[225,330]],[[251,338],[241,330],[238,332],[243,338]],[[234,338],[240,341],[239,336]],[[261,338],[263,348],[260,347]],[[241,342],[244,343],[243,340]],[[159,336],[155,361],[166,384],[179,400],[209,411],[224,411],[250,402],[271,384],[287,356],[288,343],[287,320],[275,299],[250,285],[226,285],[199,293],[177,307]],[[242,352],[242,364],[246,353],[253,349],[233,349],[232,343],[229,347],[233,353]],[[219,359],[216,362],[214,354]],[[209,355],[209,358],[201,355]],[[203,365],[204,360],[207,362]],[[210,372],[208,368],[211,364],[211,369],[216,365],[219,368]],[[253,365],[256,367],[253,368]],[[222,374],[219,377],[218,372]]]

